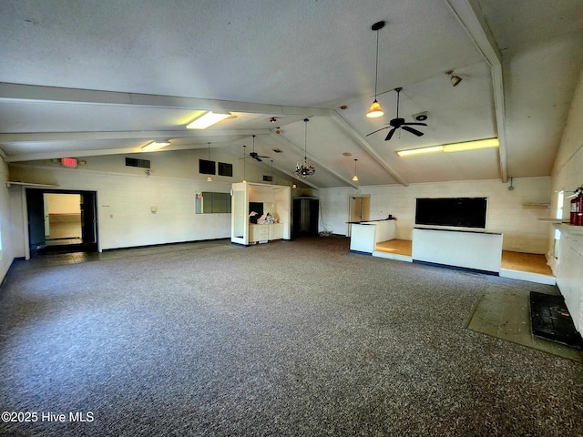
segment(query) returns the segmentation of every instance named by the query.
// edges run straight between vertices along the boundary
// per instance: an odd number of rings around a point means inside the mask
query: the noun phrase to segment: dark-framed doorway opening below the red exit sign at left
[[[95,191],[26,188],[30,256],[97,252]]]

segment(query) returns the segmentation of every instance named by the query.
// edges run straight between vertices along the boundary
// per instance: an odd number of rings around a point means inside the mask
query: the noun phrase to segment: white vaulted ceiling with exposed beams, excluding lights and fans
[[[369,119],[380,20],[385,115]],[[138,153],[169,138],[165,150],[211,142],[239,157],[257,135],[256,151],[289,175],[307,146],[314,188],[355,186],[354,158],[360,185],[547,176],[582,27],[580,0],[3,0],[0,149],[19,162]],[[400,117],[429,113],[424,136],[367,137],[396,116],[398,86]],[[205,110],[233,117],[186,129]],[[486,137],[500,137],[499,150],[396,154]]]

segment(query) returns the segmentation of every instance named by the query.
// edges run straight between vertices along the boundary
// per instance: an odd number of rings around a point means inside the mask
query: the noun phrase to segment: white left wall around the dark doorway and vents
[[[208,158],[201,151],[181,150],[159,154],[138,154],[151,159],[151,172],[128,168],[125,156],[88,157],[87,165],[61,168],[51,161],[35,161],[10,166],[12,180],[54,184],[63,189],[97,191],[98,238],[101,249],[117,249],[180,241],[230,237],[230,214],[195,214],[195,194],[200,191],[230,192],[232,182],[242,178],[241,161],[220,156],[211,149],[211,159],[233,163],[233,177],[199,174],[198,159]],[[247,159],[250,161],[250,159]],[[246,178],[261,181],[268,168],[248,164]],[[269,169],[271,172],[271,168]],[[275,176],[275,175],[274,175]],[[274,178],[292,185],[291,181]],[[11,188],[20,190],[20,188]],[[11,208],[22,211],[22,195],[12,196]],[[157,207],[157,212],[152,212]],[[16,235],[26,233],[20,212],[15,218]],[[25,241],[18,239],[19,256]]]

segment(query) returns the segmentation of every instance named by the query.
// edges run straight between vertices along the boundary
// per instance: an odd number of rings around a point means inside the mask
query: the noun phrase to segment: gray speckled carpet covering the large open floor
[[[556,290],[336,237],[15,266],[0,434],[583,435],[580,363],[465,329],[493,284]]]

